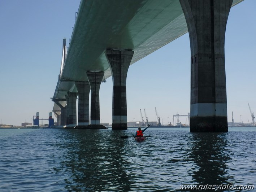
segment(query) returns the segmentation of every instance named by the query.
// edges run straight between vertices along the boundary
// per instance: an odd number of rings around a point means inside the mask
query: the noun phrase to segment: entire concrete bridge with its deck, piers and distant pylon
[[[127,129],[129,66],[189,32],[190,131],[227,131],[225,29],[231,6],[241,1],[81,0],[51,98],[58,125],[103,128],[99,89],[112,76],[112,129]]]

